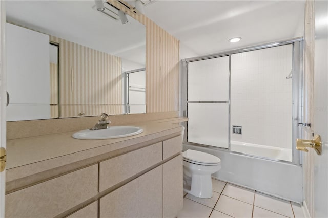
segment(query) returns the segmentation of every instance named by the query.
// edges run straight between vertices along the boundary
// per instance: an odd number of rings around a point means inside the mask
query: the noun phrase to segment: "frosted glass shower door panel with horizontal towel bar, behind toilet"
[[[229,147],[229,56],[188,62],[187,141]]]

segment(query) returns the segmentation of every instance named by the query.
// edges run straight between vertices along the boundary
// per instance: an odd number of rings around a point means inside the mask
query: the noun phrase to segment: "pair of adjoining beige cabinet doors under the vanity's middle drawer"
[[[99,217],[163,217],[162,181],[160,165],[110,192],[99,199]]]

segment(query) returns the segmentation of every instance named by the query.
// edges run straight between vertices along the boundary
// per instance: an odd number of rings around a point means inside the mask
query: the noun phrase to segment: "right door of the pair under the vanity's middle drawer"
[[[163,217],[163,166],[138,178],[138,217]]]

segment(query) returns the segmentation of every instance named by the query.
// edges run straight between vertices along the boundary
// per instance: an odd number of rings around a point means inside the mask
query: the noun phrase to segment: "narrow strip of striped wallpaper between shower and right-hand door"
[[[304,123],[313,122],[313,85],[314,85],[314,1],[305,2],[305,26],[304,26]],[[303,139],[312,139],[311,132],[302,129]],[[304,177],[304,203],[308,207],[311,217],[314,214],[314,149],[303,154]]]

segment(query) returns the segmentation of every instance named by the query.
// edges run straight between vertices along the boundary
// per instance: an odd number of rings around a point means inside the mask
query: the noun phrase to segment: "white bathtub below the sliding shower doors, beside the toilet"
[[[235,143],[235,145],[242,149],[247,148],[248,151],[254,150],[256,147],[252,144],[252,146],[244,146],[243,143],[239,145]],[[288,201],[298,203],[303,201],[303,170],[300,165],[254,157],[259,154],[248,156],[241,154],[241,151],[237,153],[215,147],[183,144],[183,151],[187,149],[207,152],[221,159],[221,169],[212,175],[213,178],[255,189]],[[258,149],[256,148],[256,150]],[[271,151],[268,150],[270,149],[263,148],[261,154],[271,154]],[[274,154],[279,154],[276,149],[273,150]]]

